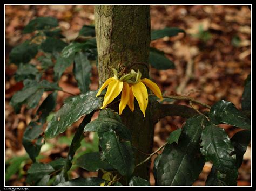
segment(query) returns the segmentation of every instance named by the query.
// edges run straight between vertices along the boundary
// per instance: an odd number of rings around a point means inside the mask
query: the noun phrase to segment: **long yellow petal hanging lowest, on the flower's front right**
[[[148,94],[146,86],[139,81],[138,83],[132,84],[132,93],[139,103],[139,108],[142,110],[145,117],[145,111],[148,103]]]

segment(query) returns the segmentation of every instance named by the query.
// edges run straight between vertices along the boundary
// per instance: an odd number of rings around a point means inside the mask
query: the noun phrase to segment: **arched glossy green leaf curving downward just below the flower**
[[[103,133],[109,130],[116,131],[122,139],[132,139],[130,130],[123,123],[112,118],[100,117],[87,124],[84,128],[84,132],[96,131],[98,133]]]

